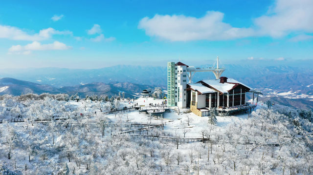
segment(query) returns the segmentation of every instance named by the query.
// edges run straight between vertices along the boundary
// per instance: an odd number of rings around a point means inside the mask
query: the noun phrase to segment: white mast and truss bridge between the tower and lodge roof
[[[221,66],[219,64],[221,64]],[[195,75],[196,72],[213,72],[213,74],[215,75],[215,78],[219,79],[224,71],[225,71],[225,67],[219,61],[219,57],[217,57],[212,67],[208,67],[208,68],[199,68],[199,67],[195,68],[194,66],[187,67],[187,73],[188,73],[187,76],[189,79],[189,83],[191,83],[192,77]]]

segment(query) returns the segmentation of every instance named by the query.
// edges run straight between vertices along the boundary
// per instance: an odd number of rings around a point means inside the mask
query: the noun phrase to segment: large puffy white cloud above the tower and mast
[[[244,38],[253,35],[251,28],[236,28],[223,22],[224,14],[208,11],[204,17],[194,18],[184,15],[155,15],[139,21],[138,28],[149,36],[171,41],[225,40]]]

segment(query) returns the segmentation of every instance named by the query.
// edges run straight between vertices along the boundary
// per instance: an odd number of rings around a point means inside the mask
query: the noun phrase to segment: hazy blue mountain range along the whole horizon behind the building
[[[196,67],[211,67],[200,65]],[[296,108],[313,109],[313,70],[308,67],[286,65],[266,66],[225,64],[222,76],[237,79],[246,85],[261,90],[260,100],[272,100]],[[146,87],[161,87],[166,90],[166,66],[117,65],[101,69],[34,68],[0,70],[0,77],[11,77],[36,82],[23,87],[14,81],[5,89],[0,85],[0,94],[25,93],[116,94],[128,92],[130,96]],[[214,78],[210,72],[197,72],[193,81]],[[3,79],[3,78],[2,78]],[[4,80],[2,80],[4,81]],[[122,83],[123,82],[123,83]],[[22,82],[21,82],[22,83]],[[43,85],[46,84],[46,85]],[[288,103],[286,101],[289,101]]]

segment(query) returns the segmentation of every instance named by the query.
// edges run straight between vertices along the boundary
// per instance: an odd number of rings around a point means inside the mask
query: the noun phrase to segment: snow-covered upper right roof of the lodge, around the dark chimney
[[[228,78],[227,82],[225,83],[220,83],[220,79],[205,79],[202,80],[204,83],[212,86],[214,89],[222,92],[222,93],[227,93],[229,90],[231,90],[236,84],[233,83],[239,83],[244,86],[245,84],[233,79],[233,78]],[[247,88],[251,89],[249,86],[246,86]]]

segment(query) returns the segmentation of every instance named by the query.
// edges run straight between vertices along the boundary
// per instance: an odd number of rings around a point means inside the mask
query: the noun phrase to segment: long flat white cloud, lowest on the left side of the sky
[[[25,46],[21,45],[13,45],[12,47],[9,48],[9,54],[24,54],[24,55],[29,55],[31,51],[38,51],[38,50],[68,50],[71,49],[71,46],[67,46],[66,44],[59,42],[59,41],[54,41],[53,43],[50,44],[41,44],[38,41],[34,41],[30,44],[26,44]]]

